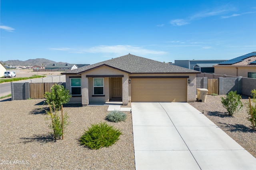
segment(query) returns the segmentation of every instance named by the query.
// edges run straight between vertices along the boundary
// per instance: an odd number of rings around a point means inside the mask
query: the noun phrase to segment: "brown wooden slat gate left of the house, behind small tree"
[[[45,92],[51,92],[51,87],[56,83],[30,83],[30,98],[43,99]]]

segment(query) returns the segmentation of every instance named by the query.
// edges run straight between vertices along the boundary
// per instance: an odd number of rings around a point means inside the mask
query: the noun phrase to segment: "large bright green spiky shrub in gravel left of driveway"
[[[121,134],[119,129],[115,129],[107,123],[93,124],[80,137],[80,143],[90,149],[100,149],[101,147],[109,147],[116,143]]]

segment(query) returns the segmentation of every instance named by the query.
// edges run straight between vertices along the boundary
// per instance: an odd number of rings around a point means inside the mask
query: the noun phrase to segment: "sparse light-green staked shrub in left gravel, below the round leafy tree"
[[[47,113],[47,117],[46,120],[51,119],[51,123],[49,125],[49,127],[51,129],[53,129],[53,135],[54,135],[54,139],[60,139],[60,137],[63,135],[62,133],[62,118],[61,118],[61,114],[59,113],[60,111],[57,111],[55,108],[53,108],[52,111],[52,107],[50,107],[50,111],[46,111]],[[68,114],[64,113],[63,115],[63,132],[66,129],[66,127],[69,125],[69,121],[68,121]]]

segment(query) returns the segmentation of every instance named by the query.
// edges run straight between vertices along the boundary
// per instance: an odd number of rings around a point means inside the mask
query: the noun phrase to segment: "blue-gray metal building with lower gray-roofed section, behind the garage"
[[[214,73],[214,65],[227,60],[175,60],[174,65],[205,73]]]

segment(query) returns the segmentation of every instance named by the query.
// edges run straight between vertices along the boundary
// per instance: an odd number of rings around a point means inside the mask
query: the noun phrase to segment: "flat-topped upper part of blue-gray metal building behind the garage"
[[[193,70],[193,67],[196,64],[212,64],[212,63],[221,63],[227,60],[175,60],[174,65],[181,66]]]

